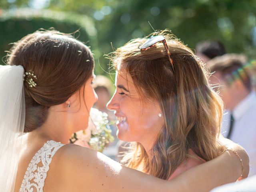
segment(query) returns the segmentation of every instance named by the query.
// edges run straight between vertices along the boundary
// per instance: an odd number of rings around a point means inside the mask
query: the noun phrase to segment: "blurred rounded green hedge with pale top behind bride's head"
[[[68,15],[50,10],[33,11],[31,9],[2,12],[0,17],[0,35],[2,37],[0,38],[0,58],[5,60],[6,53],[4,51],[9,50],[13,42],[40,28],[55,28],[65,33],[73,33],[79,29],[80,32],[74,33],[74,36],[87,44],[90,37],[97,34],[94,22],[87,16]]]

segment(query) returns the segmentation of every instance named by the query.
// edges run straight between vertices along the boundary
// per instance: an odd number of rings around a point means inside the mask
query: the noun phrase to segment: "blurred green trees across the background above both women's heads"
[[[11,11],[20,7],[36,8],[35,2],[38,1],[40,0],[8,0],[8,2],[0,2],[0,7]],[[109,62],[103,55],[113,51],[111,42],[113,47],[117,48],[132,38],[148,35],[153,32],[148,21],[156,30],[170,28],[190,48],[194,48],[200,41],[219,40],[226,46],[228,52],[245,53],[250,58],[255,58],[256,0],[41,1],[45,3],[40,8],[79,15],[68,22],[70,25],[72,22],[75,23],[73,28],[69,26],[66,29],[57,28],[62,32],[76,30],[75,26],[81,24],[76,20],[82,16],[86,15],[91,18],[90,24],[95,25],[96,32],[94,35],[88,35],[89,45],[92,46],[96,64],[99,63],[106,71],[108,71]],[[54,19],[58,18],[53,17],[51,22],[54,22]],[[8,38],[9,42],[16,41],[18,38],[16,34],[23,32],[18,27],[18,23],[15,24],[13,32],[9,31],[6,34],[2,32],[2,28],[8,27],[9,24],[6,20],[4,24],[2,22],[0,22],[1,36]],[[29,22],[33,20],[27,21]],[[47,28],[44,23],[40,26],[34,22],[32,26]],[[82,32],[83,28],[88,28],[88,25],[81,26],[81,37],[86,35]],[[104,71],[98,66],[96,74],[104,74]]]

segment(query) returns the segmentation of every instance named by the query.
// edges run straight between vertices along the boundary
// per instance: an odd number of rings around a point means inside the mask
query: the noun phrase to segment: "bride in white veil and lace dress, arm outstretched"
[[[165,181],[68,144],[87,127],[97,100],[90,49],[70,35],[36,31],[7,58],[0,66],[1,191],[209,191],[240,176],[240,160],[229,152]],[[228,147],[241,157],[246,177],[246,152],[232,142]]]

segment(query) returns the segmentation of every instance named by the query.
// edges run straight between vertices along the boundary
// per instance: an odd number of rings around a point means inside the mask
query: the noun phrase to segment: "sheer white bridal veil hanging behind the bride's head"
[[[0,65],[0,190],[13,192],[25,123],[22,66]]]

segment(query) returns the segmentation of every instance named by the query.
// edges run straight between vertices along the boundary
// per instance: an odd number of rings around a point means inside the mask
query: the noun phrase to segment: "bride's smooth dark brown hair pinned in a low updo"
[[[38,30],[12,46],[7,64],[33,71],[36,86],[24,81],[26,118],[24,132],[40,127],[48,108],[62,104],[92,76],[94,58],[88,46],[70,34]]]

